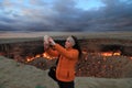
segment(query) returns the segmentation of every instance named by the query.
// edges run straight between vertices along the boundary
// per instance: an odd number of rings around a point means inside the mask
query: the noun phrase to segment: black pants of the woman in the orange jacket
[[[57,81],[59,88],[75,88],[75,82],[74,81]]]

